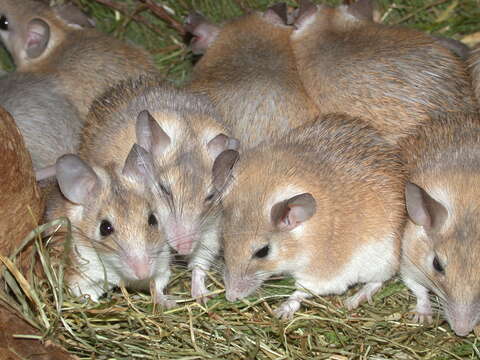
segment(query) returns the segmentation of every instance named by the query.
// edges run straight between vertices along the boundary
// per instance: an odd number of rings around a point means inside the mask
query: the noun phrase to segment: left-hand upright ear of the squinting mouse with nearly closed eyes
[[[171,143],[170,137],[147,110],[138,114],[135,132],[138,144],[153,158],[162,156]]]

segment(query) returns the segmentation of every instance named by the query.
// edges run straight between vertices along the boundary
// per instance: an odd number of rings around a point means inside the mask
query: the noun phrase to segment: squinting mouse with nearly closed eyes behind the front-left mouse
[[[228,136],[208,99],[149,78],[123,82],[94,103],[81,152],[97,163],[121,163],[125,145],[134,142],[153,156],[158,221],[171,247],[190,258],[192,296],[204,300],[222,218],[212,168],[219,154],[238,149],[239,142]]]

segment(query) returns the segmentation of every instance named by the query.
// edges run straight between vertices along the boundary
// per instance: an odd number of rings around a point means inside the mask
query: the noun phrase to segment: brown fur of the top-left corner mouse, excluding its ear
[[[51,45],[37,59],[22,60],[12,52],[17,71],[34,72],[52,77],[59,90],[85,117],[93,100],[113,84],[130,77],[156,72],[151,56],[133,44],[108,36],[92,28],[74,28],[55,15],[47,6],[23,0],[7,0],[0,6],[12,17],[12,27],[25,31],[30,19],[43,19],[50,26]],[[14,20],[14,21],[13,21]]]

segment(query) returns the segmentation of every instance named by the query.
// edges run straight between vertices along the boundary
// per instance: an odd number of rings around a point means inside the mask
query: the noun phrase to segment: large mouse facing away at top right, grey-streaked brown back
[[[290,43],[301,81],[319,109],[368,114],[365,119],[392,142],[428,122],[432,112],[476,111],[466,64],[453,45],[374,23],[373,5],[300,2]]]

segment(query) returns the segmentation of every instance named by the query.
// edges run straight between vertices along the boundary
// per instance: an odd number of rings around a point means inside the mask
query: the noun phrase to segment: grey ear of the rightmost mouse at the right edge
[[[442,204],[411,182],[405,186],[405,203],[410,219],[427,230],[438,229],[448,216],[448,211]]]

